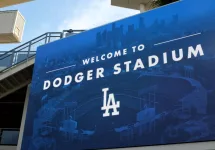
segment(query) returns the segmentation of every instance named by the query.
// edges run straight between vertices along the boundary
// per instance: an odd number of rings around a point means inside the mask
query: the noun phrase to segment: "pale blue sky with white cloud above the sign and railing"
[[[0,51],[11,50],[45,32],[88,30],[139,13],[111,6],[110,0],[35,0],[2,10],[19,10],[26,25],[22,43],[1,44]]]

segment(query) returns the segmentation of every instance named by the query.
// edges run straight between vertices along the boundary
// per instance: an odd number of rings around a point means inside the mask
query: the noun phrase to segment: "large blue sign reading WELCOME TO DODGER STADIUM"
[[[215,140],[214,14],[184,0],[41,46],[22,150]]]

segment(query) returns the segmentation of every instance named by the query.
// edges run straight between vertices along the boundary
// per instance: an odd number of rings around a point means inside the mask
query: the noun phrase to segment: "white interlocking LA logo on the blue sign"
[[[107,96],[107,92],[109,91],[109,88],[104,88],[102,89],[103,93],[104,93],[104,97],[103,97],[103,107],[101,108],[101,110],[104,110],[105,113],[103,114],[103,117],[109,117],[110,113],[109,110],[112,109],[112,116],[117,116],[119,115],[119,111],[117,111],[117,108],[120,107],[120,102],[119,101],[115,101],[115,97],[114,94],[108,94]]]

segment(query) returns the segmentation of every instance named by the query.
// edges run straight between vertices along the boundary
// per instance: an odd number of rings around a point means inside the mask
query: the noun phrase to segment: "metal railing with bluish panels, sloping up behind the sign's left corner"
[[[62,32],[48,32],[11,51],[0,54],[0,73],[28,61],[36,55],[37,47],[63,38]]]

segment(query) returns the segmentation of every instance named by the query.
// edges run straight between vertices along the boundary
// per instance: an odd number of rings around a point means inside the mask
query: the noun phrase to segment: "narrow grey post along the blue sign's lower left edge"
[[[28,108],[30,87],[31,87],[31,84],[28,85],[27,93],[25,96],[25,104],[24,104],[24,109],[23,109],[23,113],[22,113],[22,122],[21,122],[21,126],[20,126],[19,139],[18,139],[18,144],[17,144],[16,150],[21,150],[21,146],[22,146],[22,137],[23,137],[24,127],[25,127],[25,119],[26,119],[27,108]]]

